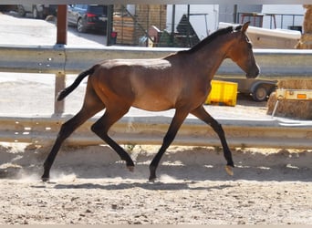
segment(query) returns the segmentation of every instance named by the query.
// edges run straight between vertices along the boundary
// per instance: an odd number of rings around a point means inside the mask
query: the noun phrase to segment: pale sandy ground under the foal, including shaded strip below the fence
[[[131,173],[108,147],[64,148],[43,183],[47,148],[2,144],[0,223],[312,223],[311,151],[237,149],[230,177],[213,148],[172,146],[150,183],[156,150],[131,150]]]

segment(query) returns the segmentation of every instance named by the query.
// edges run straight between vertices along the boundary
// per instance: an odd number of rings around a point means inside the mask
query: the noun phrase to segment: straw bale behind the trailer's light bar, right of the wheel
[[[279,80],[277,88],[312,89],[310,79]],[[276,93],[272,93],[267,101],[267,114],[272,115],[276,105]],[[312,101],[281,99],[275,116],[295,119],[312,119]]]

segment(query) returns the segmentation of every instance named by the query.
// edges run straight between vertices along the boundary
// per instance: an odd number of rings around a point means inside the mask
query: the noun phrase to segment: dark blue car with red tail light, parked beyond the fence
[[[80,33],[95,30],[106,34],[107,5],[68,5],[68,25],[77,26]]]

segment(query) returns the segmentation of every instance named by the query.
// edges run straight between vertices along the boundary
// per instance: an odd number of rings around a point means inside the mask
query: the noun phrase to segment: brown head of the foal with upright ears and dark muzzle
[[[230,57],[246,72],[247,78],[256,78],[259,75],[260,68],[255,63],[253,46],[246,35],[249,24],[250,22],[246,22],[243,26],[234,28],[235,41],[228,50],[227,57]]]

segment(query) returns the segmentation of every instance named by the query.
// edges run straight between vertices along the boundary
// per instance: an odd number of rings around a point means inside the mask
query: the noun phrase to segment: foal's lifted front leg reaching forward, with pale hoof
[[[203,106],[193,110],[191,113],[198,119],[202,119],[205,123],[209,124],[213,128],[213,130],[218,134],[221,140],[222,147],[224,149],[224,158],[227,161],[227,166],[225,167],[226,171],[230,175],[233,175],[233,171],[230,168],[234,167],[232,153],[225,140],[224,129],[222,128],[221,124],[217,120],[213,119],[213,117],[209,115],[209,113],[205,109],[203,109]]]

